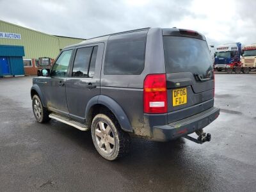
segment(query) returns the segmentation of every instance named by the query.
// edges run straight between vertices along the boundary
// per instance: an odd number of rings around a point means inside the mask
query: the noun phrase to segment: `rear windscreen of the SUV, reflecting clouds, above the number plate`
[[[166,73],[192,72],[211,76],[213,63],[207,43],[196,38],[163,36]]]

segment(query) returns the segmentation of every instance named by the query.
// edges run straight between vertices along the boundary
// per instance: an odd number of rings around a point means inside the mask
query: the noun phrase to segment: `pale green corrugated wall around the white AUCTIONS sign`
[[[15,24],[10,24],[3,20],[0,20],[0,32],[20,34],[20,40],[0,38],[0,45],[24,46],[25,56],[23,58],[27,59],[40,57],[56,58],[60,49],[63,49],[67,45],[77,44],[83,41],[83,39],[48,35]]]

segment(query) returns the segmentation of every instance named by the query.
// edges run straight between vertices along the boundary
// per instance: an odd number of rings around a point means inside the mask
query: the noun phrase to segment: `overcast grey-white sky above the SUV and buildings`
[[[177,27],[199,31],[214,45],[256,43],[255,12],[254,0],[0,0],[0,20],[52,35]]]

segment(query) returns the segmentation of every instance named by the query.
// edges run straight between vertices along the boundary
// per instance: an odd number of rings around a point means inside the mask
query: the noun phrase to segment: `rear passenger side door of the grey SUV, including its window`
[[[68,111],[71,118],[85,121],[88,101],[100,94],[100,69],[104,43],[77,47],[66,81]]]

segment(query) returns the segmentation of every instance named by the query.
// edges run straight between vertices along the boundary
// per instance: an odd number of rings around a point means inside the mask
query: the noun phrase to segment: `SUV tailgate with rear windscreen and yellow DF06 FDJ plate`
[[[168,122],[213,106],[214,73],[204,36],[195,31],[163,29]]]

